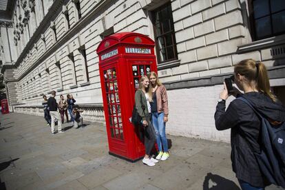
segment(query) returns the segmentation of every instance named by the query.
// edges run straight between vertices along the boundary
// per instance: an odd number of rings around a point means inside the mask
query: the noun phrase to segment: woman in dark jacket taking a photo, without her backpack
[[[253,59],[241,61],[234,68],[234,81],[253,107],[274,123],[285,120],[285,109],[270,91],[266,67]],[[226,85],[220,93],[215,112],[218,130],[231,128],[231,161],[242,189],[264,189],[269,183],[264,178],[254,153],[260,152],[260,118],[244,101],[237,98],[226,109],[229,97]]]

